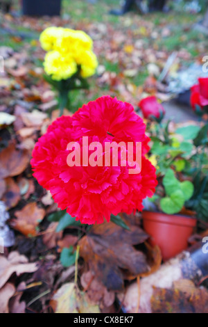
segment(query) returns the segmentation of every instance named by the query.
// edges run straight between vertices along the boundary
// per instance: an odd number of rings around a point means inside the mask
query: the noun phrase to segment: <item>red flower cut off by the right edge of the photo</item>
[[[202,109],[208,106],[208,78],[198,79],[199,83],[191,88],[191,106],[196,110],[197,106]]]

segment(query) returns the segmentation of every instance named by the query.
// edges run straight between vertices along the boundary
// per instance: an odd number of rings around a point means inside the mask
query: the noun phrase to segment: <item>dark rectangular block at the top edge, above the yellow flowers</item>
[[[62,0],[22,0],[22,13],[28,16],[59,16]]]

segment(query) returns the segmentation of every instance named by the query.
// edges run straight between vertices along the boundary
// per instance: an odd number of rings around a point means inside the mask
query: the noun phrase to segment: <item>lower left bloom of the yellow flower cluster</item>
[[[49,51],[45,56],[44,70],[55,81],[61,81],[75,74],[77,65],[72,57],[63,56],[59,51]]]

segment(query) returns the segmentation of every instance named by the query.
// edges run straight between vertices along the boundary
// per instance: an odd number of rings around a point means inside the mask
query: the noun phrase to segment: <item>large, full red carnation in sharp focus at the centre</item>
[[[104,218],[110,221],[110,214],[141,211],[143,199],[153,196],[157,185],[155,168],[144,157],[150,140],[145,129],[130,104],[109,96],[96,99],[72,117],[55,120],[39,139],[31,160],[34,176],[51,191],[58,207],[67,209],[81,223],[103,223]],[[141,173],[130,175],[128,166],[121,164],[69,167],[67,145],[76,141],[82,147],[83,136],[103,145],[112,141],[141,142]]]

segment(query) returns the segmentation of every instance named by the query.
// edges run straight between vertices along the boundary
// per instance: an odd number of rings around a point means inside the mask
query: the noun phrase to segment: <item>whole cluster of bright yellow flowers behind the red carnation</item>
[[[92,39],[83,31],[62,27],[49,27],[40,35],[42,48],[48,53],[44,60],[44,70],[55,81],[69,79],[78,71],[83,78],[96,72],[98,61],[92,51]]]

